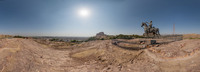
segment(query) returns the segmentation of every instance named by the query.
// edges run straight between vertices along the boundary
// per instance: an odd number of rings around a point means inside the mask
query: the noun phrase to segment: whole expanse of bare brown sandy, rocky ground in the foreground
[[[200,39],[139,51],[111,40],[56,49],[32,39],[1,39],[0,72],[200,72],[199,49]]]

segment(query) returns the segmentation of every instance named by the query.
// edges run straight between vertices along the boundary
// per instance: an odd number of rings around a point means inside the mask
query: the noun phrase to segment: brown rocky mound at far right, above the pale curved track
[[[160,47],[151,48],[149,51],[162,58],[184,58],[200,50],[200,40],[182,40]]]

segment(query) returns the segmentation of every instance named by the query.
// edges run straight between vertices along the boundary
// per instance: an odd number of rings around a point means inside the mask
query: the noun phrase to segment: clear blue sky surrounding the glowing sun
[[[86,8],[90,15],[81,17]],[[153,21],[161,34],[200,34],[199,0],[0,0],[0,34],[93,36],[142,34]]]

